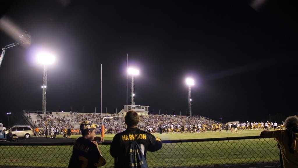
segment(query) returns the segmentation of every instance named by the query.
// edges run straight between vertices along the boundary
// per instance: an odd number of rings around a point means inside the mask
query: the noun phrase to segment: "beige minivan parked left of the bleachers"
[[[10,128],[7,128],[5,133],[5,137],[7,136],[7,133],[11,132],[13,136],[17,138],[30,138],[31,136],[34,136],[34,130],[29,125],[15,125]]]

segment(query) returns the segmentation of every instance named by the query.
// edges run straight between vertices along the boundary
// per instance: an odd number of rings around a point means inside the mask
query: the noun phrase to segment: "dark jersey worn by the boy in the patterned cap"
[[[69,168],[97,168],[103,165],[105,165],[105,159],[94,143],[84,137],[75,141],[69,160]]]

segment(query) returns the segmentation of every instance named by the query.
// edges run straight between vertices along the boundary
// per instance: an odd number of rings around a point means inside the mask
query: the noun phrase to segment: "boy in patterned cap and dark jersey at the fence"
[[[105,165],[105,159],[101,155],[97,143],[103,139],[96,137],[96,127],[96,124],[88,121],[82,122],[80,125],[82,137],[75,141],[68,168],[97,168]]]

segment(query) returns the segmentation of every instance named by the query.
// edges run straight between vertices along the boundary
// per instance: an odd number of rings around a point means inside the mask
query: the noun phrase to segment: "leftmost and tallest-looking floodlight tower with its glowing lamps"
[[[44,65],[44,74],[42,82],[42,112],[46,112],[46,79],[48,73],[48,65],[51,65],[55,62],[55,56],[48,52],[39,52],[37,55],[37,62]]]

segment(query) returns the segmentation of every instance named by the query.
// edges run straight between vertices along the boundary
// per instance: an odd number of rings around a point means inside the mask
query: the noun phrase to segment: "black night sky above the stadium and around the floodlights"
[[[126,53],[128,64],[140,69],[136,104],[153,113],[186,114],[188,76],[195,78],[193,115],[244,121],[298,111],[295,4],[267,1],[256,11],[250,1],[113,2],[1,6],[2,16],[30,32],[32,45],[6,51],[0,121],[6,122],[7,111],[41,110],[43,67],[34,61],[41,48],[56,55],[48,68],[49,111],[58,105],[99,111],[101,63],[102,111],[120,111],[126,104]],[[4,32],[0,39],[1,47],[14,42]]]

